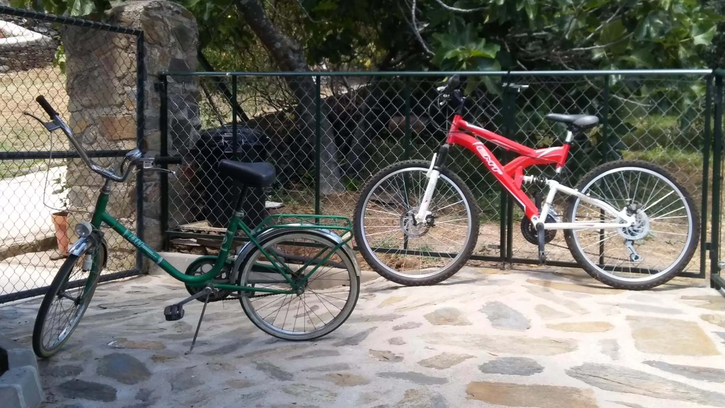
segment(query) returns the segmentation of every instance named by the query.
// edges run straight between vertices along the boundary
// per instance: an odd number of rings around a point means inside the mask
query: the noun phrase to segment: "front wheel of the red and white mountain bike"
[[[413,216],[423,200],[430,162],[407,160],[378,172],[355,208],[355,242],[378,274],[407,286],[433,285],[465,264],[479,238],[476,201],[454,172],[444,169],[425,224]]]

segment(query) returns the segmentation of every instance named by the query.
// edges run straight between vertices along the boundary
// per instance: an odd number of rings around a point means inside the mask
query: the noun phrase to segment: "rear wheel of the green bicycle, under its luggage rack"
[[[312,340],[331,333],[347,320],[360,294],[355,259],[320,230],[278,230],[265,236],[259,248],[244,259],[240,286],[291,290],[271,268],[267,254],[280,259],[299,279],[315,270],[295,294],[241,291],[239,301],[254,325],[278,338]],[[265,254],[266,253],[266,254]]]

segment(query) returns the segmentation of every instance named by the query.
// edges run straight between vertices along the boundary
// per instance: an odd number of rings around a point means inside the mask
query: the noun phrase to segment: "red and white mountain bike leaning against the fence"
[[[590,115],[546,116],[567,126],[562,146],[531,149],[463,120],[465,99],[453,76],[439,88],[440,104],[456,111],[445,143],[431,162],[407,160],[378,172],[363,188],[355,209],[355,241],[380,275],[408,286],[432,285],[450,278],[465,264],[479,238],[477,203],[463,180],[446,167],[448,151],[460,145],[476,154],[523,209],[523,238],[539,248],[564,230],[566,246],[593,278],[615,288],[653,288],[682,272],[700,235],[700,216],[689,193],[662,167],[639,160],[617,160],[584,175],[576,188],[557,178],[524,175],[526,167],[563,169],[577,132],[594,128]],[[502,165],[478,138],[519,156]],[[522,186],[545,195],[534,201]],[[568,202],[555,201],[557,193]],[[542,196],[544,197],[542,200]],[[555,210],[566,205],[561,219]],[[498,235],[498,224],[484,235]],[[489,230],[486,230],[489,228]]]

